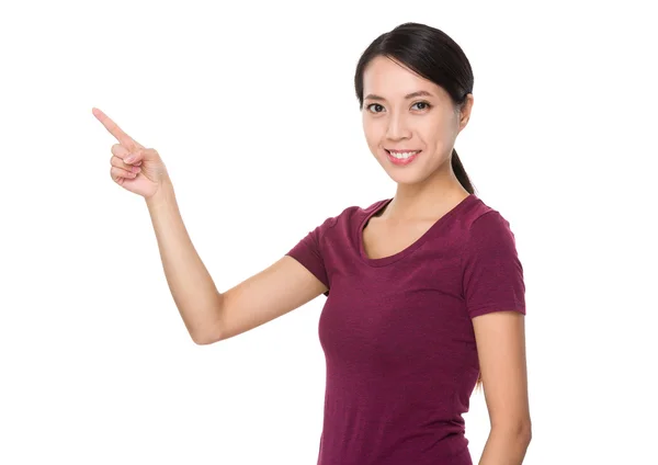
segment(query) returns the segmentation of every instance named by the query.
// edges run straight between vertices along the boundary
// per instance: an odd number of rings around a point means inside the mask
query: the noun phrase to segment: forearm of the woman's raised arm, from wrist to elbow
[[[173,300],[192,339],[204,342],[222,296],[190,239],[168,178],[146,204]]]

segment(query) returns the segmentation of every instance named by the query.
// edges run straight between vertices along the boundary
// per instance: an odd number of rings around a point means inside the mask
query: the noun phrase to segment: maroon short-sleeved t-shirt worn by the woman
[[[479,374],[472,318],[525,315],[514,235],[470,194],[408,248],[370,259],[362,232],[392,199],[326,219],[287,256],[329,291],[318,465],[472,465],[462,413]]]

